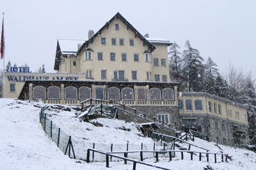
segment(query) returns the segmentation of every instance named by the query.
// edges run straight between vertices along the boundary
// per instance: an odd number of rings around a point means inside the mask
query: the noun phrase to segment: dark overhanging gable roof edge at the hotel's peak
[[[119,13],[119,12],[118,12],[118,13],[116,13],[116,15],[115,15],[113,18],[111,18],[111,19],[109,20],[109,22],[106,22],[106,24],[105,24],[98,32],[96,32],[96,33],[92,36],[92,38],[88,39],[88,41],[86,41],[86,42],[81,46],[81,48],[78,50],[78,53],[81,52],[81,50],[84,48],[84,46],[87,47],[87,46],[89,45],[89,43],[92,43],[92,42],[93,42],[93,39],[94,39],[96,36],[100,35],[101,32],[102,32],[104,29],[108,28],[108,27],[109,27],[109,24],[110,24],[113,20],[115,20],[115,19],[120,19],[120,20],[122,20],[122,22],[124,22],[124,24],[127,25],[127,28],[131,29],[131,31],[134,32],[135,37],[138,36],[138,38],[140,38],[141,41],[143,41],[143,45],[148,45],[148,50],[150,50],[150,52],[153,52],[153,51],[156,49],[156,46],[152,45],[152,43],[150,43],[144,36],[142,36],[142,35],[140,34],[140,32],[138,32],[138,31],[137,31],[137,30]]]

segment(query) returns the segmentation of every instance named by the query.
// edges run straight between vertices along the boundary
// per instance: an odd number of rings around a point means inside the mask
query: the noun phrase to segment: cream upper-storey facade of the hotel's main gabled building
[[[141,34],[134,33],[134,28],[119,13],[113,18],[108,22],[108,27],[104,25],[100,33],[96,33],[97,36],[89,39],[89,43],[85,41],[86,45],[77,48],[77,55],[62,53],[61,62],[56,63],[58,73],[86,75],[86,71],[92,71],[92,77],[89,76],[89,78],[112,81],[114,71],[124,71],[126,81],[157,81],[158,76],[159,81],[170,81],[167,46],[172,43],[165,40],[152,41],[141,38]],[[118,25],[118,30],[116,30],[116,25]],[[106,38],[104,45],[101,42],[102,38]],[[113,38],[116,45],[112,44]],[[124,39],[124,45],[120,45],[120,39]],[[134,45],[130,45],[131,39]],[[152,46],[155,49],[152,49]],[[92,58],[86,59],[86,53],[91,53]],[[102,60],[98,59],[98,53],[102,53]],[[115,60],[111,60],[111,53],[115,53]],[[122,60],[122,53],[125,53],[127,60]],[[134,61],[134,55],[138,55],[138,61]],[[146,55],[150,55],[149,60],[146,59]],[[158,59],[158,66],[154,66],[154,59]],[[74,66],[74,61],[77,66]],[[106,71],[104,79],[102,79],[102,71]],[[136,71],[136,78],[132,78],[132,71]],[[163,77],[166,80],[163,80]]]

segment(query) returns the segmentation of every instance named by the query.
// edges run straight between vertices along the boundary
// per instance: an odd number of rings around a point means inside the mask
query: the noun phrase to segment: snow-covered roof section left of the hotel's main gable
[[[83,45],[83,43],[86,40],[79,40],[79,39],[58,39],[59,44],[60,44],[60,50],[61,53],[63,54],[70,54],[72,53],[77,53],[78,51],[78,44]]]

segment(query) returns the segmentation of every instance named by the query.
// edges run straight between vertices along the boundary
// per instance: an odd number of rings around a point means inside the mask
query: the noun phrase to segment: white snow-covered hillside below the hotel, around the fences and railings
[[[81,160],[69,159],[60,151],[56,143],[52,141],[42,130],[39,124],[39,111],[33,105],[37,103],[28,103],[14,99],[0,99],[0,169],[108,169],[105,162],[93,162],[87,164]],[[44,104],[40,104],[41,106]],[[136,130],[135,124],[128,124],[124,121],[109,120],[99,118],[97,121],[102,127],[95,127],[93,124],[79,122],[74,115],[75,112],[61,111],[54,113],[50,117],[56,125],[67,134],[72,136],[74,141],[84,138],[84,148],[86,144],[92,146],[92,143],[100,146],[109,146],[113,143],[113,150],[122,150],[121,146],[126,143],[138,147],[143,143],[145,149],[152,147],[154,141],[150,138],[143,138],[139,131]],[[52,114],[52,113],[51,113]],[[129,131],[122,130],[130,129]],[[87,130],[84,130],[86,129]],[[191,161],[190,154],[184,153],[184,160],[180,160],[180,154],[168,162],[168,157],[160,157],[159,162],[154,163],[154,157],[143,160],[156,166],[166,167],[168,169],[204,169],[207,166],[212,169],[256,169],[256,153],[240,148],[208,143],[201,139],[195,139],[195,142],[189,141],[195,145],[209,148],[210,152],[227,153],[232,156],[232,161],[221,162],[217,158],[218,164],[214,164],[213,156],[210,156],[210,162],[198,160],[194,155]],[[96,144],[97,143],[97,144]],[[81,143],[74,143],[74,148]],[[186,144],[184,147],[188,148]],[[104,147],[98,149],[104,150]],[[115,148],[115,146],[118,146]],[[120,146],[120,148],[119,148]],[[109,147],[108,147],[109,148]],[[199,148],[191,146],[191,150],[201,151]],[[111,169],[132,169],[131,162],[124,165],[124,161],[109,162]],[[152,167],[137,164],[137,169],[156,169]]]

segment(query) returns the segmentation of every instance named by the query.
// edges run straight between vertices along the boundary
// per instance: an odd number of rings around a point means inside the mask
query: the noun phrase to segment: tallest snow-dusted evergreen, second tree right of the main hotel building
[[[200,56],[200,52],[193,48],[189,40],[185,43],[186,50],[183,51],[183,69],[182,72],[186,81],[188,81],[188,90],[201,91],[200,83],[204,77],[204,59]]]

